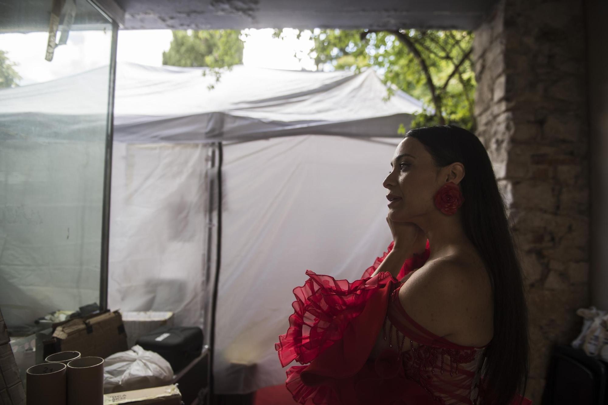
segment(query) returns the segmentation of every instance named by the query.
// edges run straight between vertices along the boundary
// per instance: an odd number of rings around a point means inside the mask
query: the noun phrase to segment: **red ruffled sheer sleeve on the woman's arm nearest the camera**
[[[356,280],[334,280],[306,271],[309,279],[294,288],[295,310],[289,329],[275,344],[286,371],[286,387],[300,404],[432,404],[418,384],[403,378],[392,350],[369,355],[384,321],[397,280],[389,272]],[[407,400],[402,400],[406,394]],[[307,402],[308,401],[308,402]]]

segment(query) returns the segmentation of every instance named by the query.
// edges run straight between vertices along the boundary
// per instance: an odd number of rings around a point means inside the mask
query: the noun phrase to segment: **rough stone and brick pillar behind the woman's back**
[[[589,179],[582,2],[502,0],[475,31],[477,134],[505,195],[530,312],[527,396],[541,400],[552,344],[589,304]]]

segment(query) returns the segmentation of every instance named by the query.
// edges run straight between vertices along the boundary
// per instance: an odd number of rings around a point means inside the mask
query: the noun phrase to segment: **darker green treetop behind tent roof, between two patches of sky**
[[[236,30],[175,30],[171,46],[162,53],[162,64],[210,67],[203,75],[214,75],[217,83],[223,69],[243,63],[244,45],[240,35]]]

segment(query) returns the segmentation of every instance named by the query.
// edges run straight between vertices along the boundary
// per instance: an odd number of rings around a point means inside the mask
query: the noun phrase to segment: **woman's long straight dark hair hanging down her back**
[[[485,262],[494,294],[494,336],[486,348],[482,403],[506,405],[527,386],[528,310],[519,252],[488,153],[477,136],[452,125],[416,128],[406,137],[419,140],[437,167],[465,166],[462,224]]]

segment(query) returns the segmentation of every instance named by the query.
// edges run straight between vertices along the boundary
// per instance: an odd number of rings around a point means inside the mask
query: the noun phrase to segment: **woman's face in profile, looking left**
[[[406,137],[395,150],[391,166],[389,176],[382,183],[388,190],[389,218],[412,222],[434,209],[434,196],[441,187],[439,171],[424,145],[413,137]]]

